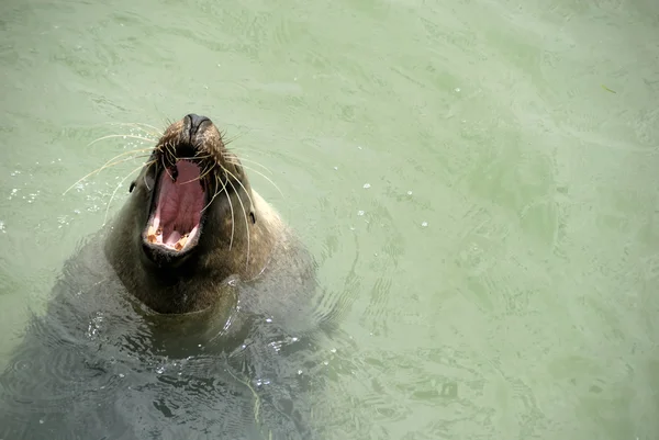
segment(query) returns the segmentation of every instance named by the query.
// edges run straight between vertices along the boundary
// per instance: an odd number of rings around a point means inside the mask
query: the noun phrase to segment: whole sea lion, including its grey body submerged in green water
[[[0,375],[0,438],[314,438],[315,286],[220,131],[188,114],[32,319]]]

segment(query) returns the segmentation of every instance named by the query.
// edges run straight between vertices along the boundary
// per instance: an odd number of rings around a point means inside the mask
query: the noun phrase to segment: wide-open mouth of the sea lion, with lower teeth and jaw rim
[[[200,176],[199,165],[187,159],[160,171],[144,233],[152,247],[178,253],[197,245],[206,200]]]

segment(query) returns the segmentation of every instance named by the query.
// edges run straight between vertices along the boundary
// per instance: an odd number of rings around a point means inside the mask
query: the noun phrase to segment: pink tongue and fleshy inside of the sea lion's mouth
[[[169,246],[186,234],[197,233],[204,202],[199,182],[200,168],[190,161],[179,160],[177,169],[176,182],[171,179],[171,169],[160,177],[160,194],[154,218],[154,226],[163,228],[158,241]]]

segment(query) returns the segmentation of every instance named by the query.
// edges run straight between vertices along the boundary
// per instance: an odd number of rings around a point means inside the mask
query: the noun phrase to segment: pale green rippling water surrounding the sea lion
[[[148,146],[87,145],[194,112],[339,305],[334,438],[659,438],[658,4],[4,0],[0,364]]]

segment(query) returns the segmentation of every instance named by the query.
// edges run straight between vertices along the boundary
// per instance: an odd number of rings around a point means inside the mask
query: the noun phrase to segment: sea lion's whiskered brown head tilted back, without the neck
[[[204,258],[216,259],[221,249],[244,248],[257,222],[241,161],[226,149],[213,122],[197,114],[165,129],[130,191],[132,205],[137,204],[131,212],[139,230],[135,238],[141,259],[157,269],[194,264],[199,271]],[[245,258],[221,257],[236,263]]]

